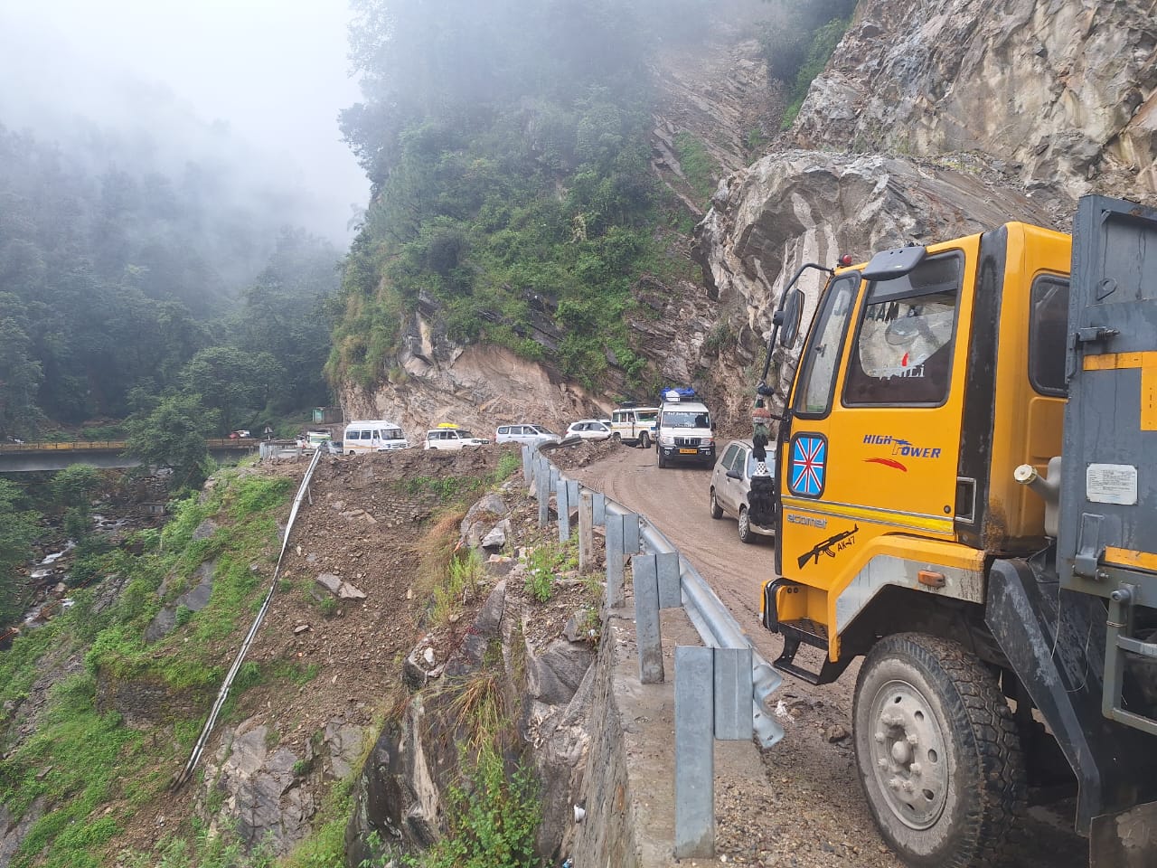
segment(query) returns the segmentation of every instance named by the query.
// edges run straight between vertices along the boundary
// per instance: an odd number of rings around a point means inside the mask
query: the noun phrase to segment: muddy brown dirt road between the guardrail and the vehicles
[[[712,520],[708,470],[659,470],[653,449],[622,448],[567,476],[646,515],[714,588],[754,648],[768,661],[779,656],[780,638],[759,623],[760,583],[774,571],[773,542],[759,538],[744,545],[734,518]],[[798,662],[818,664],[818,657],[804,659],[804,653]],[[762,771],[778,797],[771,804],[746,804],[742,787],[724,788],[717,796],[721,844],[740,862],[801,868],[900,866],[868,812],[852,740],[830,741],[840,735],[834,727],[852,731],[855,675],[853,667],[839,683],[819,687],[784,676],[776,697],[782,700],[780,712],[787,715],[778,718],[787,735],[762,751]],[[1070,831],[1069,823],[1053,810],[1031,809],[1007,865],[1084,868],[1088,844]]]

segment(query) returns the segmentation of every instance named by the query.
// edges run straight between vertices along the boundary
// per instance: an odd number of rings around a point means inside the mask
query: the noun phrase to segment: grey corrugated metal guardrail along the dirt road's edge
[[[558,487],[560,491],[563,484],[578,485],[580,488],[583,486],[577,484],[573,479],[563,477],[558,468],[550,462],[550,458],[543,456],[536,449],[531,447],[523,447],[528,450],[523,457],[523,471],[529,476],[533,472],[536,461],[535,457],[541,456],[543,461],[550,466],[548,484],[543,486],[546,488],[546,494],[550,496],[550,492]],[[543,488],[538,488],[539,492]],[[567,501],[572,500],[569,495],[566,498]],[[540,501],[539,510],[541,514],[545,503]],[[634,515],[629,509],[620,503],[604,496],[604,507],[606,513],[613,515]],[[670,539],[668,539],[662,531],[658,530],[646,516],[639,516],[639,535],[640,535],[640,547],[647,554],[663,554],[669,552],[675,552],[679,554],[679,584],[683,590],[684,606],[687,611],[687,617],[691,619],[692,625],[699,632],[700,638],[703,643],[712,648],[736,648],[736,649],[750,649],[751,650],[751,669],[752,669],[752,726],[756,731],[756,736],[759,738],[760,745],[764,748],[771,748],[783,738],[783,727],[775,722],[775,720],[767,713],[767,700],[771,694],[783,683],[783,677],[772,668],[772,665],[756,650],[751,641],[747,639],[739,623],[735,619],[731,612],[728,611],[723,602],[716,596],[715,591],[712,590],[710,586],[703,580],[699,574],[699,571],[685,558],[679,550],[675,547]],[[596,523],[599,522],[596,517]],[[610,534],[607,535],[610,543]]]

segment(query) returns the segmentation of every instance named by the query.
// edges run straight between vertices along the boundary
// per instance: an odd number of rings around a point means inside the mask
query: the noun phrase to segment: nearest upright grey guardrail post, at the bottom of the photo
[[[675,649],[675,858],[715,855],[712,649]]]

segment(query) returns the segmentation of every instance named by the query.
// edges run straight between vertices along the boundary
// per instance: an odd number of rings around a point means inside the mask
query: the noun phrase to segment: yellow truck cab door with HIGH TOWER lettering
[[[780,444],[782,575],[838,595],[876,537],[952,538],[965,265],[949,249],[897,278],[834,279]]]

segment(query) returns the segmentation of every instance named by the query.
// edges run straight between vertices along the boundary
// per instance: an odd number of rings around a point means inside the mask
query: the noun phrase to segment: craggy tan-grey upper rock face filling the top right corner
[[[1155,45],[1148,0],[863,0],[791,138],[997,155],[1020,182],[1154,204]]]

